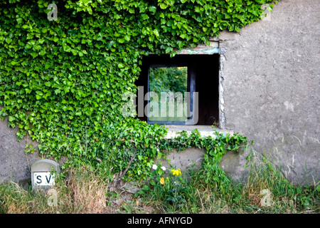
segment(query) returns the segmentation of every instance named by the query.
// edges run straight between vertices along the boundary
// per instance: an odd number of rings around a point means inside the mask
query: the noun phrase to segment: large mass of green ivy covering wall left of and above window
[[[107,161],[114,172],[134,157],[127,179],[145,178],[166,130],[121,113],[142,56],[240,31],[270,2],[0,0],[0,116],[18,126],[18,140],[28,133],[40,142],[43,155],[68,157],[67,165]],[[47,18],[52,3],[57,21]]]

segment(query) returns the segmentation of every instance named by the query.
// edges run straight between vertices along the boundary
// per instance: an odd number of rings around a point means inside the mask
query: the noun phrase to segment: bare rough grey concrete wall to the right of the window
[[[289,180],[313,185],[320,174],[319,0],[279,1],[270,16],[219,36],[223,127],[254,140]],[[245,155],[226,156],[221,165],[240,177],[245,162]]]

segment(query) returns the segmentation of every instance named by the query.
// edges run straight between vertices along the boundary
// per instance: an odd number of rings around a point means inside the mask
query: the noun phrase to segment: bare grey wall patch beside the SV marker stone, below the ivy
[[[0,183],[14,181],[26,186],[31,180],[31,165],[38,157],[38,152],[25,154],[26,145],[38,145],[26,136],[18,142],[18,128],[8,127],[8,118],[0,120]]]

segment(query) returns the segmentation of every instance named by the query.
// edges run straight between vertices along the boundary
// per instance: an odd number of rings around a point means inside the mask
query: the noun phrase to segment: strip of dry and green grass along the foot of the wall
[[[0,185],[0,213],[319,213],[319,185],[294,186],[264,158],[252,163],[246,182],[220,185],[203,180],[205,170],[168,176],[164,185],[144,185],[135,195],[111,192],[110,183],[88,167],[69,170],[46,191],[24,190],[14,182]],[[270,193],[270,195],[265,195]],[[262,202],[269,197],[270,202]]]

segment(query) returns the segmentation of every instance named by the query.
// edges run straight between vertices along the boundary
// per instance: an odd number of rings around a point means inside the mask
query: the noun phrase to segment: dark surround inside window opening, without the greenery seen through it
[[[139,61],[141,73],[135,85],[138,87],[137,98],[134,100],[137,115],[135,118],[148,123],[148,117],[144,110],[149,100],[146,93],[149,92],[149,67],[150,66],[187,66],[188,71],[193,70],[193,76],[196,78],[196,87],[198,93],[196,107],[196,118],[193,123],[175,123],[169,121],[154,121],[161,125],[220,125],[220,54],[178,54],[171,58],[169,55],[149,54]],[[191,88],[192,89],[192,88]],[[146,98],[146,100],[144,100]],[[150,122],[149,124],[153,124]]]

